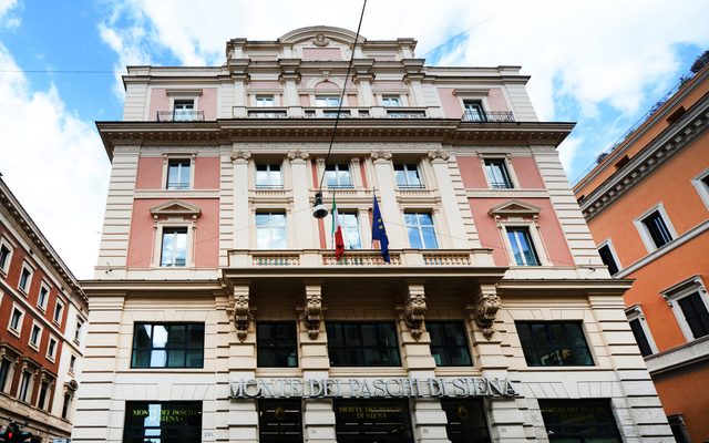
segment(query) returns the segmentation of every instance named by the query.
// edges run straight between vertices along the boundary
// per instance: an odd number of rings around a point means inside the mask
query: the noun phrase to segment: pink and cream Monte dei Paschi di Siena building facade
[[[113,169],[73,441],[671,441],[629,281],[555,151],[573,124],[538,122],[517,66],[354,38],[129,68],[123,121],[97,123]]]

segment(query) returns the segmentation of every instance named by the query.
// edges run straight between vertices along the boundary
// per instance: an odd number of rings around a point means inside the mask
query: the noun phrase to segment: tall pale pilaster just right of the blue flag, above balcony
[[[379,208],[384,218],[387,237],[389,237],[389,248],[408,248],[409,241],[404,237],[403,219],[394,190],[397,183],[394,182],[393,167],[391,165],[391,153],[388,151],[373,151],[371,158],[374,162],[377,195],[379,197]]]

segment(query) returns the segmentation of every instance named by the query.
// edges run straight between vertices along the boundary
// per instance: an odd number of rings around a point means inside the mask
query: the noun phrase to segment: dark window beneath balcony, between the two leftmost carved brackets
[[[297,368],[298,343],[294,322],[259,322],[256,324],[257,361],[259,368]]]

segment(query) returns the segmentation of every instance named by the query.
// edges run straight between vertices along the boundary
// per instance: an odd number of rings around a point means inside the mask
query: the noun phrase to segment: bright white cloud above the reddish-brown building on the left
[[[0,44],[0,165],[34,223],[78,278],[97,256],[109,161],[93,124],[70,113],[56,89],[32,91]]]

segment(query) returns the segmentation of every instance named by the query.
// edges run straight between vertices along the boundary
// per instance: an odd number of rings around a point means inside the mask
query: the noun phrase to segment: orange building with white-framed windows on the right
[[[709,64],[575,186],[678,442],[709,441]]]

